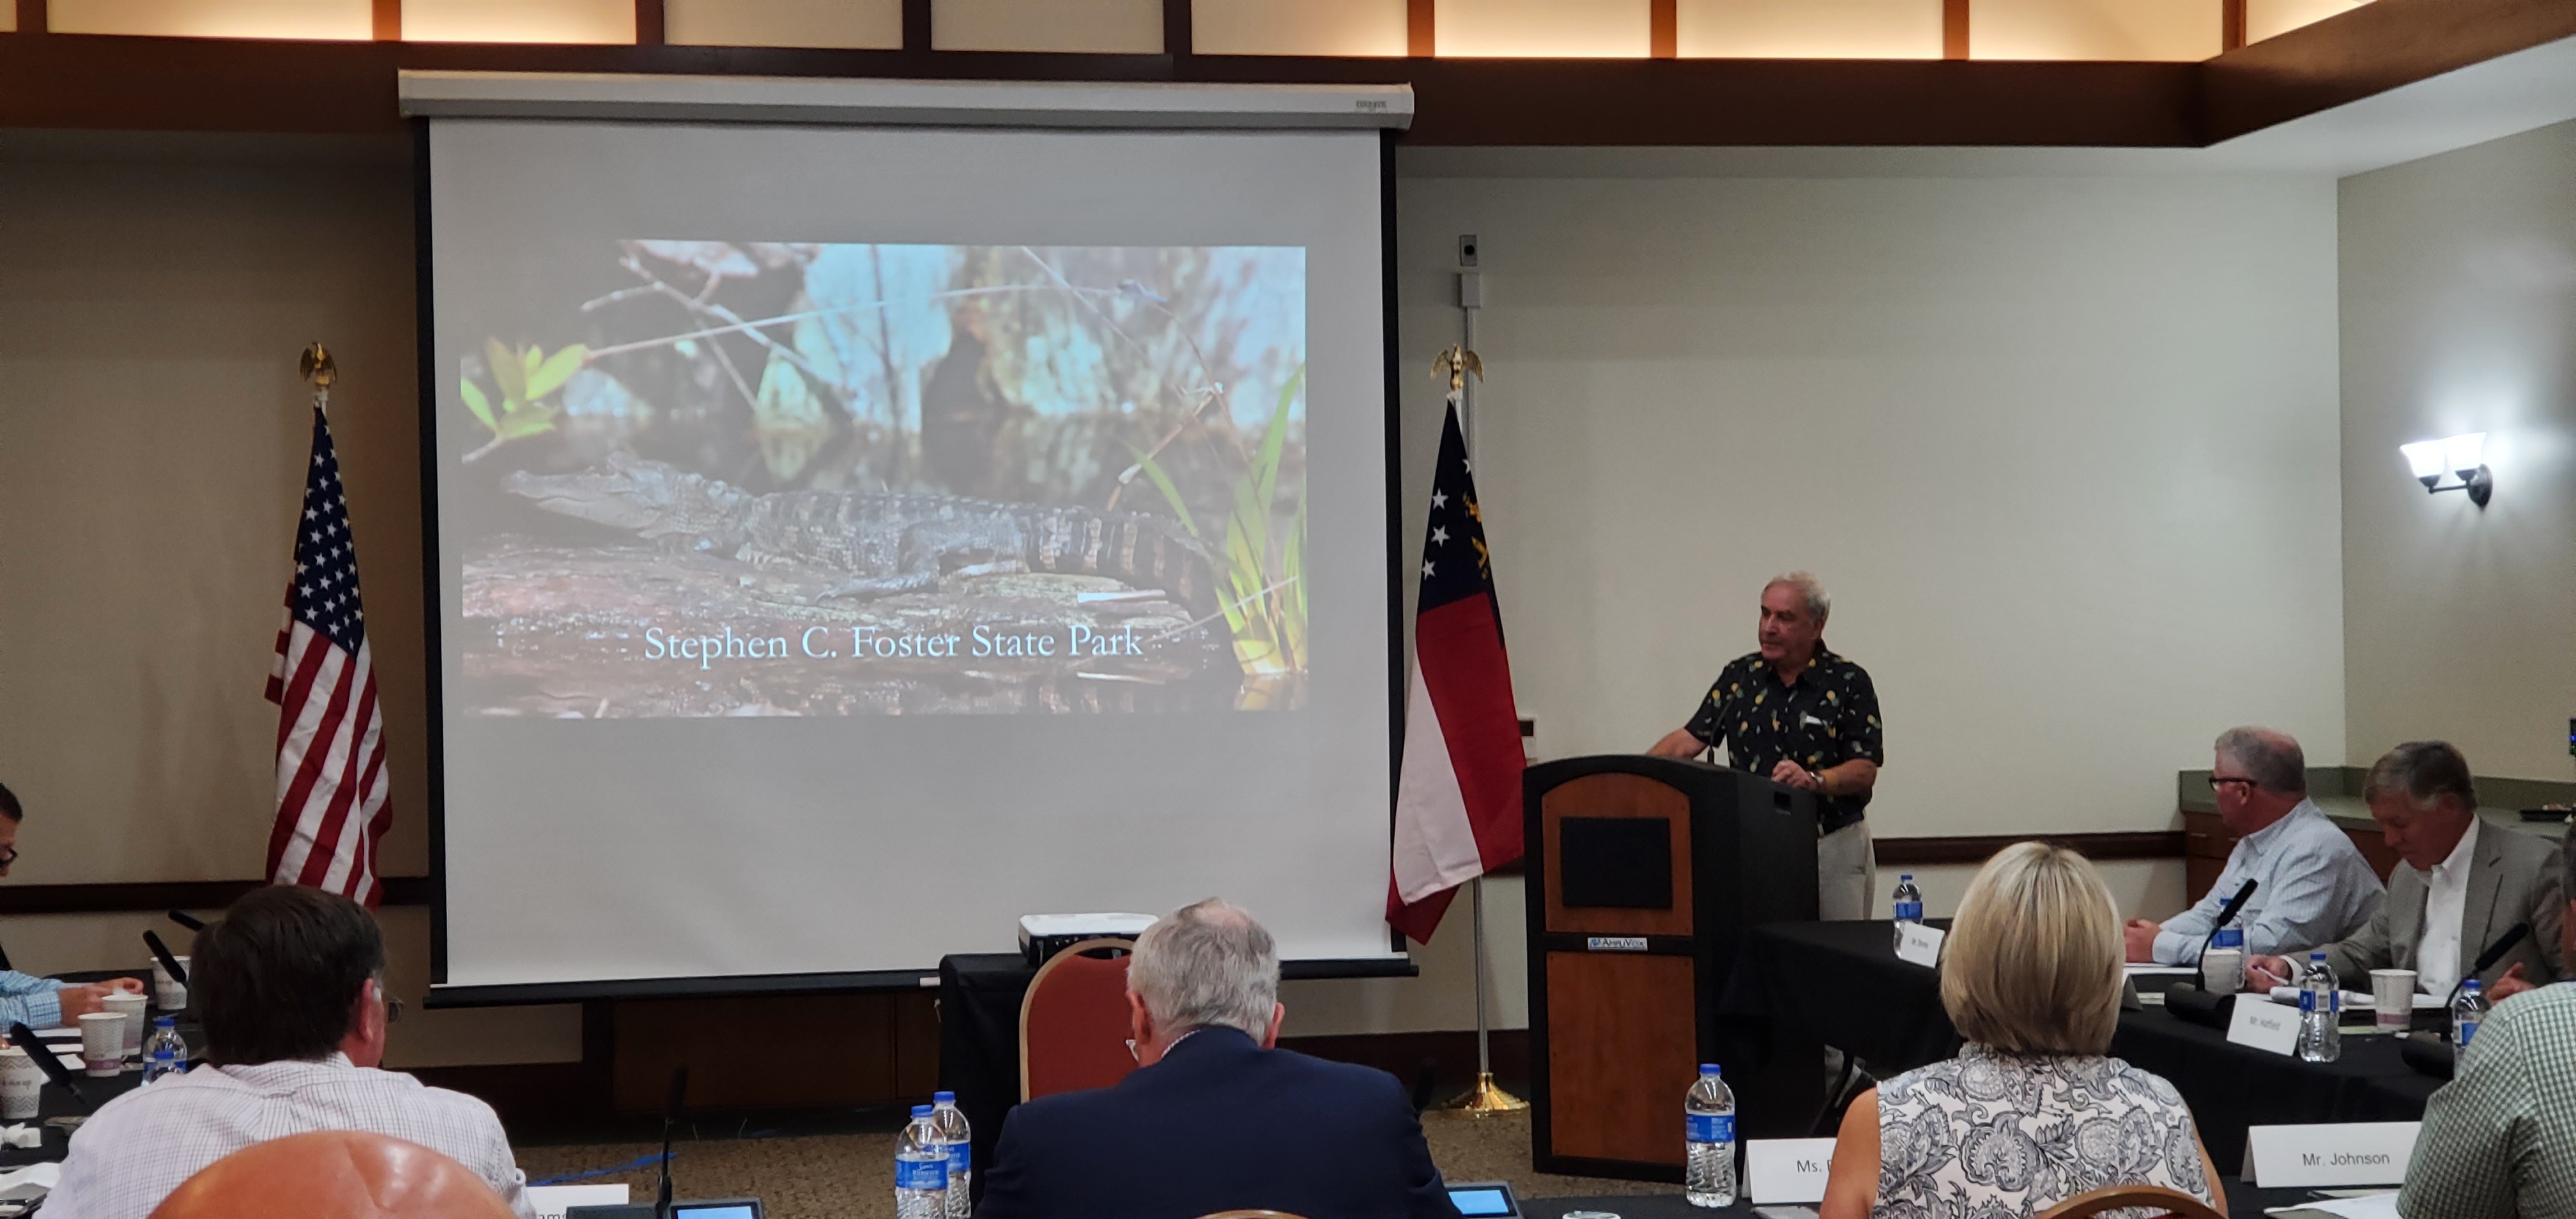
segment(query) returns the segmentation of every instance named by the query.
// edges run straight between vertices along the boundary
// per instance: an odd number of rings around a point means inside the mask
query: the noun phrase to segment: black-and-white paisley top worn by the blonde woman
[[[2192,1111],[2161,1075],[2110,1057],[1968,1044],[1878,1085],[1873,1219],[2027,1219],[2102,1185],[2164,1185],[2218,1204]]]

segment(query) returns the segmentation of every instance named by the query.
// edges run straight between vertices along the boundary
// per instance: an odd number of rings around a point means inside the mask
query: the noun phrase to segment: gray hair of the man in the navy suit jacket
[[[1211,897],[1144,928],[1128,990],[1159,1031],[1226,1026],[1260,1039],[1280,1003],[1280,951],[1252,915]]]

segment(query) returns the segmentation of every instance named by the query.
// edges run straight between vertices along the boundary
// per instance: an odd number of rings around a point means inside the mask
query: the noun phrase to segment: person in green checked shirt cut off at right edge
[[[2568,917],[2558,977],[2576,969],[2576,832],[2558,848]],[[2421,1219],[2576,1216],[2576,982],[2506,995],[2460,1075],[2424,1106],[2398,1211]]]

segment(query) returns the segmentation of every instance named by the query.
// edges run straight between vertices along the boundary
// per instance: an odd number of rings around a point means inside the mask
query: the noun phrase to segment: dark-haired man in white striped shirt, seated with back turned
[[[242,1147],[343,1129],[443,1152],[533,1219],[492,1106],[376,1070],[384,936],[358,902],[258,889],[196,936],[188,964],[206,1064],[100,1106],[72,1134],[46,1216],[144,1219],[196,1170]]]

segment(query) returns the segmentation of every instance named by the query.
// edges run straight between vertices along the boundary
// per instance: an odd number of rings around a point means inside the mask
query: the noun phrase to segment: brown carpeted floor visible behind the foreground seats
[[[1448,1180],[1510,1180],[1525,1198],[1584,1193],[1672,1193],[1674,1185],[1602,1178],[1561,1178],[1530,1170],[1530,1116],[1463,1118],[1427,1113],[1422,1131],[1432,1160]],[[690,1139],[683,1126],[672,1147],[672,1180],[680,1198],[752,1196],[773,1219],[894,1219],[894,1134],[814,1134],[739,1139],[732,1131],[701,1129]],[[518,1162],[528,1180],[626,1165],[652,1157],[654,1144],[559,1144],[520,1147]],[[585,1183],[626,1183],[634,1201],[652,1201],[652,1167],[587,1178]]]

